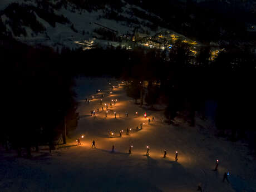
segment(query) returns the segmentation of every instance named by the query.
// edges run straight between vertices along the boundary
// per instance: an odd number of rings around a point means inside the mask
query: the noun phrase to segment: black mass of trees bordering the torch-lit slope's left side
[[[5,37],[0,49],[7,125],[1,126],[1,141],[18,156],[25,148],[29,157],[32,146],[53,147],[66,117],[75,113],[73,73],[51,48],[32,48]]]

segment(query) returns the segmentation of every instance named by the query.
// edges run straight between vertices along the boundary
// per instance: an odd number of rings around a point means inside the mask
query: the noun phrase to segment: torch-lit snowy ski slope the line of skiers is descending
[[[179,125],[166,125],[161,121],[163,111],[152,112],[134,105],[126,96],[124,86],[114,88],[111,95],[103,98],[102,103],[109,105],[107,118],[106,108],[101,110],[98,99],[90,104],[83,100],[90,92],[97,97],[99,88],[102,93],[109,93],[109,82],[115,83],[106,78],[77,81],[80,120],[76,131],[69,135],[66,147],[55,150],[51,156],[41,151],[41,157],[33,160],[16,159],[15,154],[1,155],[1,192],[189,192],[196,191],[199,183],[203,191],[209,192],[256,191],[255,160],[248,155],[247,147],[214,137],[207,122],[196,119],[196,127],[189,127],[176,119]],[[112,99],[118,100],[114,107],[110,107]],[[94,119],[91,111],[97,111],[98,107],[100,112],[96,112]],[[125,117],[126,111],[128,117]],[[144,112],[151,119],[151,125],[144,119]],[[134,130],[141,122],[145,122],[143,129]],[[130,134],[120,137],[119,131],[126,131],[127,127],[132,128]],[[110,131],[114,131],[114,138],[109,137]],[[82,145],[76,146],[76,138],[81,135],[85,135]],[[96,141],[96,149],[91,148],[92,140]],[[111,153],[112,145],[114,153]],[[133,145],[130,155],[129,145]],[[149,156],[145,155],[146,146],[150,147]],[[175,162],[176,151],[178,162]],[[219,167],[213,171],[216,159]],[[231,174],[230,184],[222,183],[225,171]]]

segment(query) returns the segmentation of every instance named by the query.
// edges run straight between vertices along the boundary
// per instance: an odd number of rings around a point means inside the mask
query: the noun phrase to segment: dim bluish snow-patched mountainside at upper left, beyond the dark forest
[[[76,48],[81,44],[75,42],[102,39],[102,34],[99,34],[102,30],[116,38],[131,36],[135,28],[144,35],[163,30],[149,21],[161,22],[160,17],[124,1],[122,3],[118,11],[109,4],[88,11],[77,8],[68,0],[4,0],[0,2],[0,22],[5,26],[2,33],[29,45]]]

